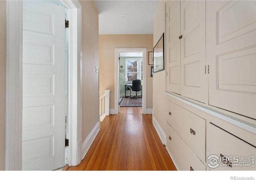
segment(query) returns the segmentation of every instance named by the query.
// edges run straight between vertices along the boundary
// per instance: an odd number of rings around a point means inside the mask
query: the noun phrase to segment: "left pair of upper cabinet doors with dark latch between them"
[[[166,90],[206,103],[205,1],[166,2]]]

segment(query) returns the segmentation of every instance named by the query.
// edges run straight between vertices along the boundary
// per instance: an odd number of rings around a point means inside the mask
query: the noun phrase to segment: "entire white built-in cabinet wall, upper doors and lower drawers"
[[[256,1],[166,1],[166,148],[180,170],[256,155]]]

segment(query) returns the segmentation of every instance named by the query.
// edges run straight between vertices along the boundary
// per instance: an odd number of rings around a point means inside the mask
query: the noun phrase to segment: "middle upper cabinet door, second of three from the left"
[[[205,1],[181,1],[181,95],[207,101],[205,74]]]

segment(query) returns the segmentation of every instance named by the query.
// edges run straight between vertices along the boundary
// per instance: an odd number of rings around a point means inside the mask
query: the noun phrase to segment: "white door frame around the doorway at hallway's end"
[[[146,48],[115,48],[115,91],[114,91],[114,112],[111,114],[118,114],[119,112],[119,53],[120,52],[142,52],[143,63],[143,88],[142,88],[142,114],[146,114],[146,90],[147,90],[147,49]]]

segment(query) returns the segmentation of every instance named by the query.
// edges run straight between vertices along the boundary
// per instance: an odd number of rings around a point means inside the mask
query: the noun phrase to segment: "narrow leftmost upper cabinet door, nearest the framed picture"
[[[166,90],[180,94],[180,1],[166,2]]]

